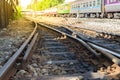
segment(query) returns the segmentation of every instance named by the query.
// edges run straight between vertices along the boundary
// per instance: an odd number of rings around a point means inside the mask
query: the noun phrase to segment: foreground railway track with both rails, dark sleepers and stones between
[[[36,28],[5,63],[0,80],[120,79],[120,59],[110,49],[71,30],[39,23],[35,35]]]

